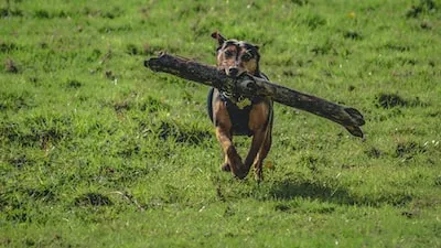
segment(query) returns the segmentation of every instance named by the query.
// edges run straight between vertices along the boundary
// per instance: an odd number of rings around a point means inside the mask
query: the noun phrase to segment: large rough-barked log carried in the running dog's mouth
[[[363,115],[355,108],[341,106],[248,74],[243,74],[233,79],[215,66],[204,65],[165,53],[161,53],[159,57],[144,61],[144,66],[154,72],[173,74],[224,91],[232,93],[234,89],[236,94],[245,97],[256,95],[270,97],[276,103],[330,119],[345,127],[351,134],[363,138],[363,131],[359,127],[365,123],[365,120]]]

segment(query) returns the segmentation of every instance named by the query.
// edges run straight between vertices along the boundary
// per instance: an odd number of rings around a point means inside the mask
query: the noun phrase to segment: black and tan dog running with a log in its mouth
[[[268,80],[260,72],[259,46],[238,40],[225,39],[220,33],[212,33],[217,40],[217,68],[232,78],[244,73]],[[271,148],[273,109],[272,100],[255,96],[246,98],[236,93],[211,88],[207,97],[208,116],[216,129],[225,162],[223,171],[230,171],[235,177],[245,179],[254,165],[255,179],[263,180],[262,163]],[[245,161],[233,143],[234,136],[252,137],[251,147]]]

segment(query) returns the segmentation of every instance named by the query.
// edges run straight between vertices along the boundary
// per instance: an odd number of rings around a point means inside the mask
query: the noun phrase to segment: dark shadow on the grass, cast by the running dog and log
[[[412,201],[412,195],[405,192],[384,192],[370,195],[352,194],[344,188],[334,188],[312,182],[282,181],[270,188],[270,195],[277,200],[304,197],[341,205],[380,206],[384,204],[400,206]]]

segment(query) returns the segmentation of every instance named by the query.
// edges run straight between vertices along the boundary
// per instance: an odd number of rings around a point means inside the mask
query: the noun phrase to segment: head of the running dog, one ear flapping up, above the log
[[[217,40],[217,67],[230,77],[243,73],[259,74],[259,46],[237,40],[227,40],[220,33],[212,33]]]

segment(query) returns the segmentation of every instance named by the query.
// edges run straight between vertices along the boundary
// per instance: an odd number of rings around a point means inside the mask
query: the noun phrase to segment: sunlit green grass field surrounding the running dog
[[[0,8],[0,247],[441,247],[440,1]],[[265,181],[220,172],[208,88],[143,67],[215,64],[216,30],[366,140],[276,105]]]

